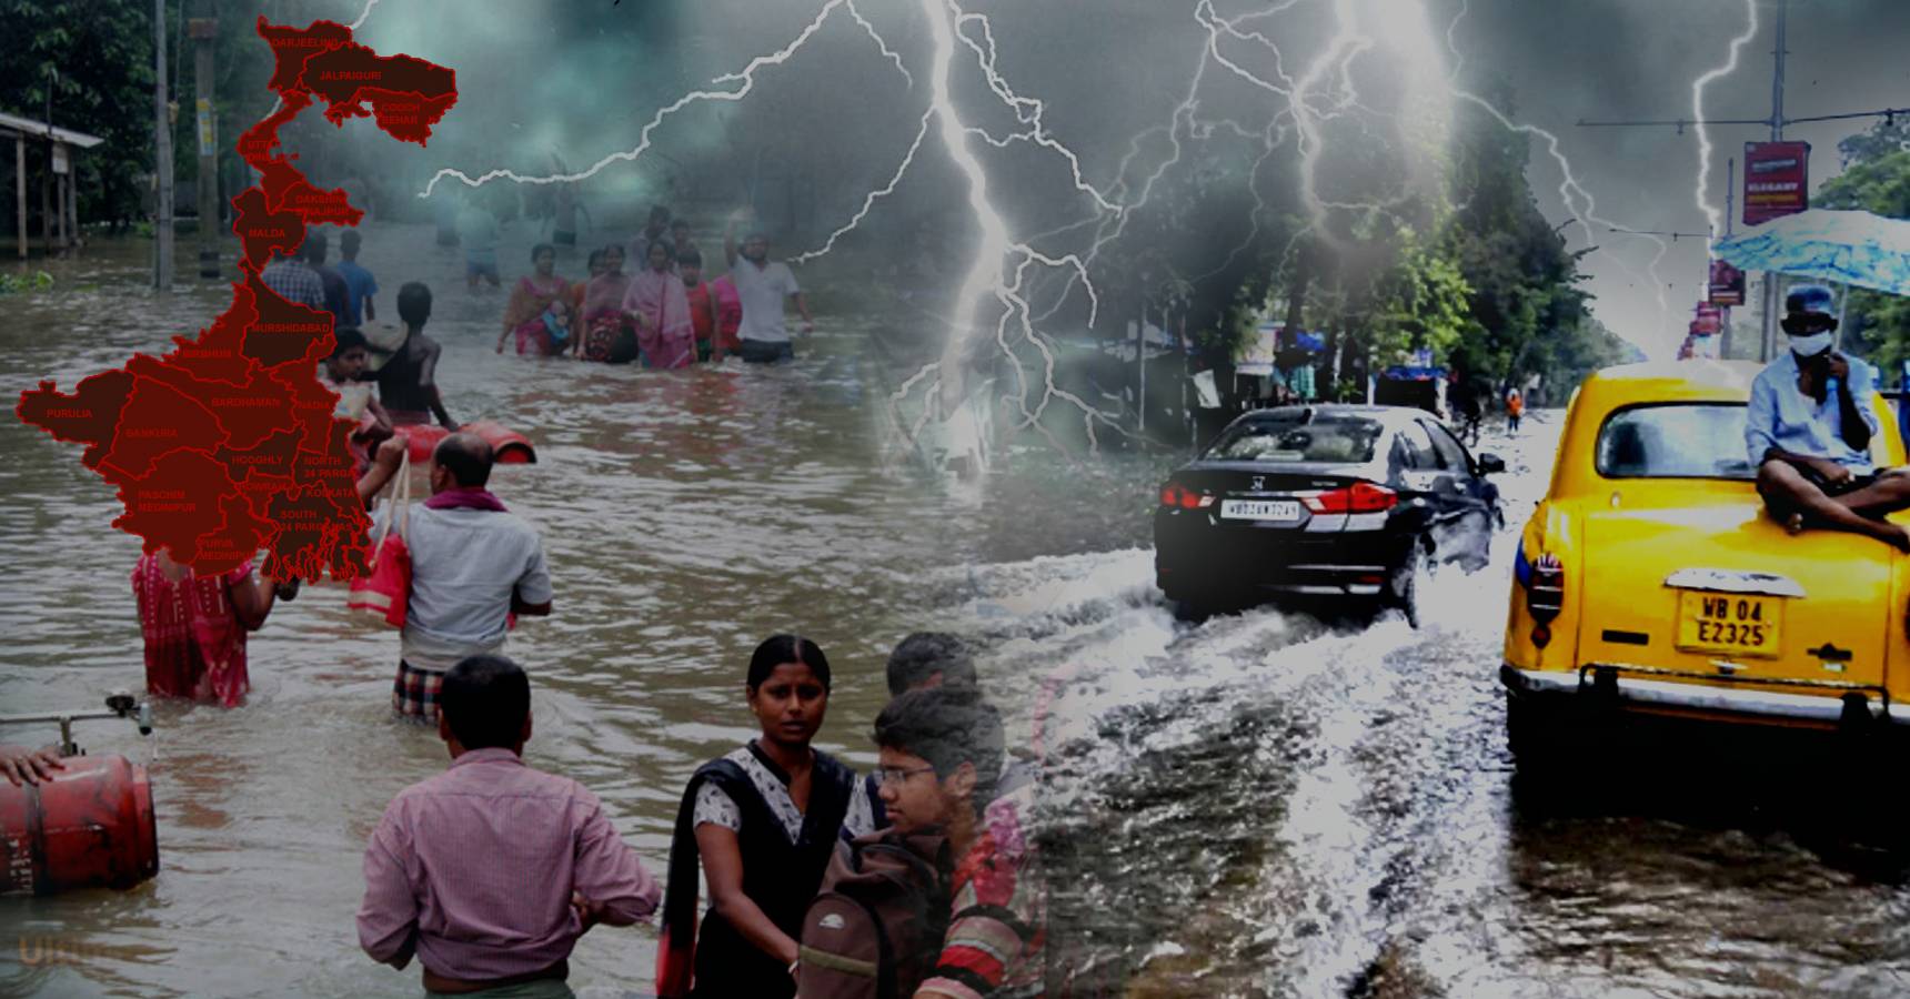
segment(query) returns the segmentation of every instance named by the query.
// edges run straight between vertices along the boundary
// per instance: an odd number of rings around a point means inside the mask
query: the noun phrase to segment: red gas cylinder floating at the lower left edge
[[[145,768],[126,756],[71,756],[38,785],[0,779],[0,894],[130,888],[159,873]]]

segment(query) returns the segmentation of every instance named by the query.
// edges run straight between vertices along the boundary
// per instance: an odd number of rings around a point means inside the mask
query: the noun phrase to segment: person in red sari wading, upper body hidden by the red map
[[[244,636],[265,625],[279,592],[290,598],[296,586],[275,588],[252,573],[250,562],[202,577],[166,548],[141,556],[132,592],[145,638],[145,690],[239,707],[252,690]]]

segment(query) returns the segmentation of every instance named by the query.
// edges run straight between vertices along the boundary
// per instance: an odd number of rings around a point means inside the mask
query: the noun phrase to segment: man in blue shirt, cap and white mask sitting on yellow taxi
[[[1832,350],[1830,288],[1801,285],[1784,300],[1790,350],[1751,382],[1744,443],[1757,491],[1790,533],[1811,527],[1870,535],[1910,552],[1910,531],[1883,514],[1910,508],[1910,476],[1878,472],[1870,367]]]

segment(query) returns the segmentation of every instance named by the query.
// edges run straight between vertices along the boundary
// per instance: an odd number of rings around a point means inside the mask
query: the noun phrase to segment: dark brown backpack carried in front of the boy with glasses
[[[802,915],[796,999],[907,999],[942,957],[955,863],[938,829],[837,846]]]

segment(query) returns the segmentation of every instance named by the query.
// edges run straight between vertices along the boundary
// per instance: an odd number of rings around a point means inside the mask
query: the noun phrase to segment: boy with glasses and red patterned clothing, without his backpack
[[[911,690],[875,720],[896,833],[940,831],[955,858],[940,957],[913,995],[1039,995],[1045,926],[1031,789],[1001,793],[1001,718],[974,688]]]

